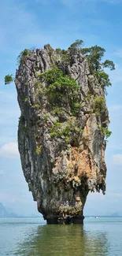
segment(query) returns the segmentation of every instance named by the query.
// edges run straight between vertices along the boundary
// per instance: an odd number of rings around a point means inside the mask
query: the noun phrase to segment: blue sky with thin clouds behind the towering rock
[[[14,84],[4,85],[4,76],[15,74],[24,48],[50,43],[66,49],[83,39],[85,46],[105,47],[105,58],[116,64],[107,96],[113,132],[105,152],[107,191],[90,194],[84,213],[122,215],[122,0],[4,0],[0,7],[0,202],[18,214],[37,213],[17,151],[17,92]]]

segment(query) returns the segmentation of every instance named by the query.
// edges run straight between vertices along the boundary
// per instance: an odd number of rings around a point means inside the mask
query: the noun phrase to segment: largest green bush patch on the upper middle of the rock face
[[[79,85],[75,80],[65,76],[57,66],[43,72],[39,78],[46,82],[45,93],[51,106],[61,110],[61,107],[68,105],[72,114],[76,115],[79,112]]]

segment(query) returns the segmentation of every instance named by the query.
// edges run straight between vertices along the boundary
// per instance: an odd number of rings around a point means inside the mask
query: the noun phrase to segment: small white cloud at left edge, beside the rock
[[[19,152],[17,142],[11,142],[0,147],[0,156],[4,158],[18,158]]]

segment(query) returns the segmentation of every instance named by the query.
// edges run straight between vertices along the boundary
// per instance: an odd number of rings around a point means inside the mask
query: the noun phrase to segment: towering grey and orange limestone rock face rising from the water
[[[57,114],[48,96],[45,80],[39,74],[57,66],[79,85],[81,107],[74,117],[63,103]],[[83,223],[83,206],[89,191],[105,193],[105,136],[102,127],[109,124],[105,103],[99,113],[94,102],[105,98],[101,84],[91,74],[87,59],[77,51],[70,60],[50,45],[31,50],[21,61],[16,73],[16,86],[21,117],[18,144],[24,176],[37,201],[38,210],[48,224]],[[61,106],[62,107],[62,106]],[[52,135],[54,124],[71,124],[65,133]]]

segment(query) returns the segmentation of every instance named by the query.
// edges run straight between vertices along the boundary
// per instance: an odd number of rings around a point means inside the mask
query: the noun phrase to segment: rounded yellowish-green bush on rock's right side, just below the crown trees
[[[105,98],[104,97],[96,97],[93,99],[91,103],[91,112],[101,114],[102,110],[105,108]]]

